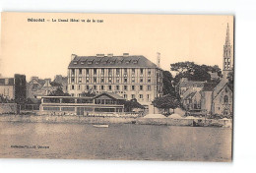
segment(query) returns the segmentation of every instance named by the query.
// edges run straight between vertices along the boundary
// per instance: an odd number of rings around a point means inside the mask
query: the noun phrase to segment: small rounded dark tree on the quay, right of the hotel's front
[[[171,94],[164,95],[162,97],[156,97],[152,102],[155,107],[164,109],[167,115],[169,115],[169,109],[176,109],[180,105],[180,100]]]

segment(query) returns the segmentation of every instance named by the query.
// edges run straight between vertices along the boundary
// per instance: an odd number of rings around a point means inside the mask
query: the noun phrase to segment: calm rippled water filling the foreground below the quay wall
[[[230,161],[231,129],[0,122],[0,157]]]

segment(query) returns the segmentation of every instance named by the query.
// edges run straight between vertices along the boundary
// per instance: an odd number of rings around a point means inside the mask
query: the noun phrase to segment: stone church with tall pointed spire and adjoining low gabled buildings
[[[183,79],[179,84],[182,106],[191,115],[194,113],[232,117],[233,90],[228,85],[228,78],[233,73],[232,52],[227,24],[224,42],[223,78],[220,82],[193,82]]]

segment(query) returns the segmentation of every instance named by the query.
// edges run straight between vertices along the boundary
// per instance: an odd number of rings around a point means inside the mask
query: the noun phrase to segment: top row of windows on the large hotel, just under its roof
[[[79,69],[78,71],[79,71],[79,75],[82,75],[82,70],[83,69]],[[96,68],[94,69],[94,75],[96,75]],[[106,69],[101,69],[100,70],[100,72],[101,72],[101,75],[103,75],[103,74],[105,74],[105,72],[106,72]],[[113,69],[108,69],[108,75],[112,75],[113,74]],[[144,73],[144,69],[140,69],[140,74],[141,75],[143,75],[143,73]],[[75,75],[75,69],[72,69],[71,70],[71,74],[72,75]],[[90,74],[90,69],[86,69],[86,74]],[[120,75],[120,69],[116,69],[115,70],[115,74],[116,75]],[[135,69],[133,68],[132,69],[132,74],[134,75],[135,74]],[[127,69],[124,69],[124,75],[127,75]],[[148,69],[148,75],[151,75],[151,69]]]

